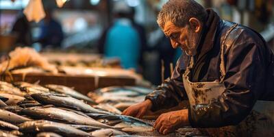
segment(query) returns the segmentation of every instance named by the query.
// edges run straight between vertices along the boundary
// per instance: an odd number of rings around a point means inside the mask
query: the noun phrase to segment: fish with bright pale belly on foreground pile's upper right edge
[[[62,93],[64,95],[69,95],[75,99],[80,99],[87,101],[88,103],[95,104],[97,103],[90,99],[89,97],[86,97],[85,95],[82,95],[81,93],[77,92],[76,90],[73,90],[72,88],[66,87],[66,86],[61,86],[61,85],[54,85],[54,84],[48,84],[45,85],[46,88],[49,88],[50,90],[53,90],[58,93]]]

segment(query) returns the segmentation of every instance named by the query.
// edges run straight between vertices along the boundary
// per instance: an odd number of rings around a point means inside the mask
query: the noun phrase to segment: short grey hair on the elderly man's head
[[[184,27],[192,17],[206,23],[207,16],[205,8],[194,0],[169,0],[159,12],[157,23],[162,29],[168,21],[177,27]]]

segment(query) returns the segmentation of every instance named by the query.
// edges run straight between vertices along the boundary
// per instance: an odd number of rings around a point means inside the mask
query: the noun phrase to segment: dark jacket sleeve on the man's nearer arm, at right
[[[192,127],[222,127],[240,123],[251,112],[264,90],[266,47],[249,29],[241,29],[225,55],[225,90],[209,104],[189,108]]]

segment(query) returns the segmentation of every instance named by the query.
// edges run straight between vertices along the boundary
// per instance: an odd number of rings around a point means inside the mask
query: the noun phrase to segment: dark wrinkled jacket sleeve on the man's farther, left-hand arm
[[[164,108],[171,108],[177,105],[180,101],[186,100],[187,95],[182,82],[182,74],[186,70],[186,60],[184,53],[181,55],[171,75],[171,79],[166,79],[162,85],[147,95],[145,99],[150,99],[153,103],[153,111]]]

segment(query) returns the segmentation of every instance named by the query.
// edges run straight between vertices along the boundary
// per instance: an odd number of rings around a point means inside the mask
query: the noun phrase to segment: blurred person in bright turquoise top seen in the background
[[[140,60],[140,34],[131,21],[131,10],[125,3],[114,7],[114,23],[99,40],[99,52],[105,58],[119,58],[124,69],[138,69]]]

